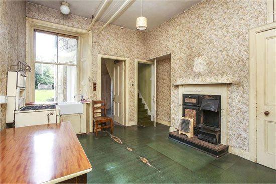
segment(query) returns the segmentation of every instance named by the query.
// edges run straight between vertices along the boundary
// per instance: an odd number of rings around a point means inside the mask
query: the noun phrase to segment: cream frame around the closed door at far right
[[[250,160],[257,162],[257,117],[256,117],[256,36],[257,33],[276,28],[276,22],[249,30],[249,153]]]

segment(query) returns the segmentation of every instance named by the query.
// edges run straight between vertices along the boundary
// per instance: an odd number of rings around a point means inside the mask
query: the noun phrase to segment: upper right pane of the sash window
[[[77,64],[77,39],[58,37],[58,62]]]

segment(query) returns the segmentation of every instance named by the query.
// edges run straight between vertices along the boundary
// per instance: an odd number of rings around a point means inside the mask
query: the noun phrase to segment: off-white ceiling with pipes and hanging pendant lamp
[[[170,18],[187,10],[201,0],[143,0],[143,16],[147,17],[148,28],[159,26]],[[30,0],[29,2],[43,5],[45,7],[59,10],[61,2],[59,0]],[[69,3],[70,13],[91,18],[96,15],[103,0],[65,0]],[[110,0],[105,11],[98,18],[99,21],[107,22],[112,15],[122,6],[122,0]],[[128,6],[111,22],[111,24],[136,30],[136,18],[141,16],[141,0],[133,0]]]

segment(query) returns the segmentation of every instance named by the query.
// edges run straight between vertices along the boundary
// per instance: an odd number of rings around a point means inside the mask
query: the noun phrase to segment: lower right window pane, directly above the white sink
[[[77,91],[77,67],[58,65],[58,102],[73,102]]]

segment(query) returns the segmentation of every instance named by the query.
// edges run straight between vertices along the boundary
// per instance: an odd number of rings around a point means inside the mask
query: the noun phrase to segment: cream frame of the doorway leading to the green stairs
[[[134,98],[135,98],[135,114],[134,114],[134,118],[135,118],[135,125],[138,124],[138,63],[144,63],[144,64],[148,64],[148,65],[152,65],[152,81],[154,80],[153,76],[154,76],[154,70],[153,70],[153,65],[154,62],[153,61],[146,61],[146,60],[141,60],[141,59],[135,59],[135,90],[134,90]],[[153,85],[154,83],[152,82],[152,99],[153,99]],[[152,108],[153,108],[153,101],[152,101]],[[156,111],[156,109],[155,109]],[[153,116],[153,113],[151,113],[151,116]]]

